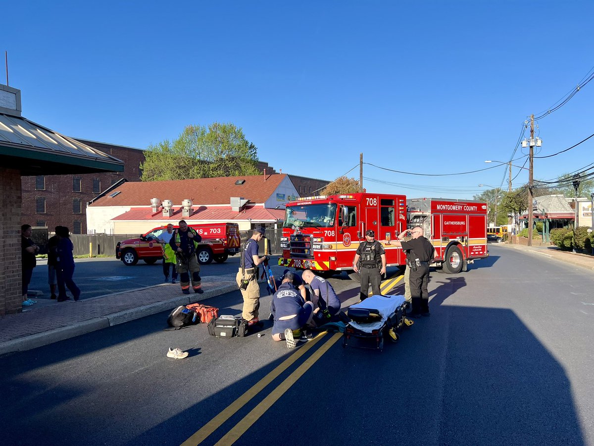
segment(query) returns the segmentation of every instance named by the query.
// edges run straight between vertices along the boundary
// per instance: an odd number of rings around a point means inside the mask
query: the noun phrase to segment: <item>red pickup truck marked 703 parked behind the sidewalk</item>
[[[223,263],[229,256],[239,252],[241,240],[239,238],[239,225],[236,223],[208,223],[200,225],[189,225],[201,235],[202,241],[196,249],[198,262],[208,265],[213,260]],[[175,225],[173,228],[178,228]],[[132,266],[143,259],[145,263],[152,265],[163,258],[163,247],[157,241],[157,237],[166,231],[165,226],[150,230],[141,234],[138,238],[129,238],[119,241],[115,248],[116,259],[122,260],[124,265]]]

